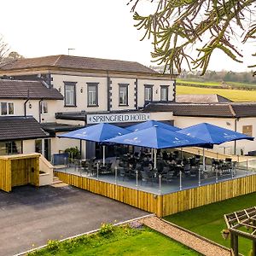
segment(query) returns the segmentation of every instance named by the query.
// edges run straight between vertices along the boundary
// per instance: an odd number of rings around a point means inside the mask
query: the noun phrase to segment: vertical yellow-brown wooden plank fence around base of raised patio
[[[208,184],[195,189],[185,189],[166,195],[155,195],[119,184],[106,183],[89,177],[55,172],[64,183],[104,195],[116,201],[154,212],[158,217],[201,207],[212,202],[223,201],[256,191],[256,175],[234,178],[229,181]]]

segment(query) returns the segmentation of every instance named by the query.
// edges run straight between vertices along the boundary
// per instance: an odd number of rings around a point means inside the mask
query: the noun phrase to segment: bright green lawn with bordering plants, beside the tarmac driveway
[[[111,233],[107,232],[105,235],[98,233],[90,236],[79,236],[79,238],[64,242],[49,241],[46,248],[29,255],[193,256],[199,254],[154,230],[148,228],[135,230],[125,226],[114,227]]]

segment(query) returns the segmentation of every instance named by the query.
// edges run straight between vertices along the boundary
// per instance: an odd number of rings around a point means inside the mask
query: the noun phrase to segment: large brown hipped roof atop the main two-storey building
[[[118,61],[71,55],[52,55],[18,59],[0,66],[0,71],[35,67],[66,67],[87,70],[157,74],[153,69],[134,61]]]

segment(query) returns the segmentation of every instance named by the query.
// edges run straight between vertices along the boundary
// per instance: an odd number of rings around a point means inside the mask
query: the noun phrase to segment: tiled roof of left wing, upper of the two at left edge
[[[48,89],[40,81],[0,79],[0,98],[2,99],[49,99],[62,100],[56,89]]]

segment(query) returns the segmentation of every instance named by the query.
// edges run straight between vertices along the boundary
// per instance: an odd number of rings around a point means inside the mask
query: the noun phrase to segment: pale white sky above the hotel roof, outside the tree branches
[[[151,62],[150,41],[140,41],[128,0],[2,0],[0,34],[12,50],[25,57],[82,55],[88,57]],[[143,0],[139,13],[150,13]],[[209,69],[245,71],[253,64],[243,49],[247,63],[236,64],[221,53],[213,55]],[[70,49],[70,50],[68,50]],[[255,60],[254,60],[255,62]]]

